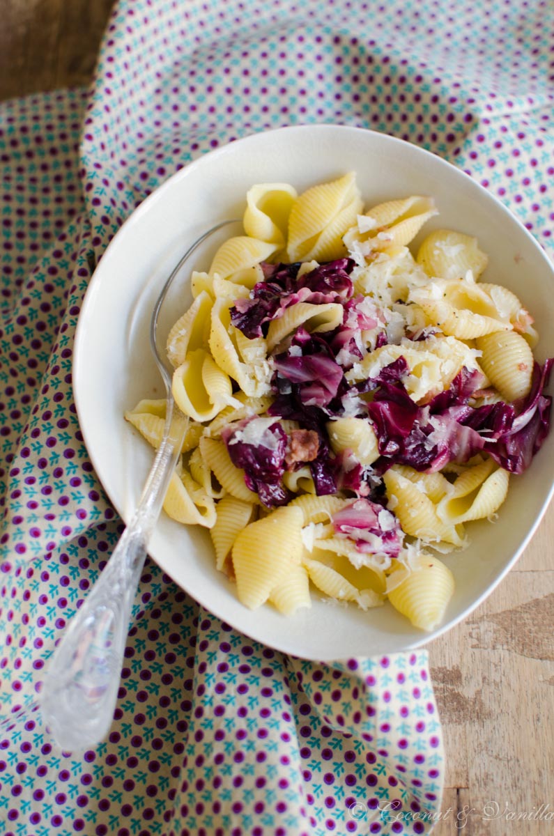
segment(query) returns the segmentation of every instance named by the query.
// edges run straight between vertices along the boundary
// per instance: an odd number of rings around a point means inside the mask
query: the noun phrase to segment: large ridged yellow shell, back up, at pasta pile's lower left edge
[[[282,584],[303,552],[302,512],[284,507],[250,523],[233,545],[233,568],[242,604],[256,609]]]

